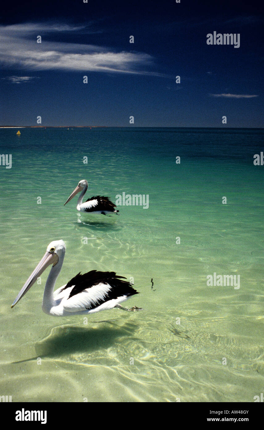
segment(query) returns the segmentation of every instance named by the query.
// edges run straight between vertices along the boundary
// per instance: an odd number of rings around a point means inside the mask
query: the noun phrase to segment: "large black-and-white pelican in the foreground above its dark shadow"
[[[23,297],[33,286],[38,276],[52,264],[46,282],[42,310],[52,316],[69,316],[99,312],[100,310],[119,307],[120,303],[138,292],[130,285],[124,276],[117,276],[115,272],[99,272],[91,270],[88,273],[78,273],[66,285],[54,291],[54,286],[65,255],[63,240],[52,241],[44,256],[33,270],[24,286],[18,293],[11,307]],[[131,308],[131,310],[134,310]],[[135,307],[135,310],[139,308]]]

